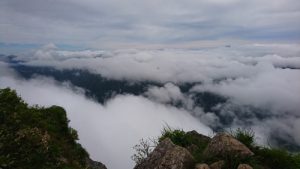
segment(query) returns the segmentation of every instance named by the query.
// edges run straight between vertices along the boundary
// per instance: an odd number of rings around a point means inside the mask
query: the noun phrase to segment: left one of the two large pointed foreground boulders
[[[194,158],[187,149],[166,138],[134,169],[190,169],[194,164]]]

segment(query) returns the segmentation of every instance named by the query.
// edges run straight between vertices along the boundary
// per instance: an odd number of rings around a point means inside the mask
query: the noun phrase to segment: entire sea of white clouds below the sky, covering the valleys
[[[110,51],[64,51],[49,44],[16,59],[27,66],[84,69],[108,79],[163,84],[139,96],[116,95],[100,104],[82,88],[40,76],[25,80],[0,62],[1,88],[16,89],[31,105],[64,107],[79,142],[109,168],[132,168],[132,146],[141,138],[159,136],[166,124],[207,135],[213,135],[216,126],[252,128],[261,144],[272,142],[276,133],[300,146],[298,44]],[[184,93],[179,85],[185,83],[194,86]],[[196,104],[192,96],[200,92],[228,99],[215,107],[220,114]],[[227,117],[232,119],[229,124],[220,122]]]

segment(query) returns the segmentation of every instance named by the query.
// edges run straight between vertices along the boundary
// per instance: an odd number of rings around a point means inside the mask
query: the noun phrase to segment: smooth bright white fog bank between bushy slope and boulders
[[[51,79],[24,81],[0,77],[0,87],[7,86],[16,89],[30,105],[64,107],[70,125],[78,130],[79,142],[94,160],[103,162],[108,168],[132,168],[132,147],[141,138],[159,136],[166,124],[212,133],[189,112],[141,96],[118,95],[101,105],[87,99],[80,91],[76,93]]]

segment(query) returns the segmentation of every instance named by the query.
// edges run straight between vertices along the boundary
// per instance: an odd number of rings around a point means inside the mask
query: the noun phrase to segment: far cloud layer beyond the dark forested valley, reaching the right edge
[[[166,83],[149,88],[144,95],[155,102],[180,104],[213,128],[252,127],[265,135],[261,143],[270,142],[266,138],[273,139],[277,129],[285,133],[283,138],[300,145],[294,133],[299,130],[300,115],[299,49],[299,44],[256,43],[195,50],[81,51],[78,55],[43,48],[23,60],[31,66],[87,69],[109,79]],[[182,93],[177,85],[186,83],[198,85]],[[201,92],[229,100],[215,107],[218,114],[204,112],[194,98]]]

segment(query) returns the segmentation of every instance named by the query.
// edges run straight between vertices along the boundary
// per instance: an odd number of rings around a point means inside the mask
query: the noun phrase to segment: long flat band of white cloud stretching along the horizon
[[[248,78],[264,71],[261,70],[264,69],[262,64],[300,68],[299,45],[266,46],[257,47],[254,44],[199,50],[131,49],[80,52],[42,49],[38,50],[38,55],[29,54],[22,59],[29,60],[26,63],[28,65],[87,69],[112,79],[175,83]]]

